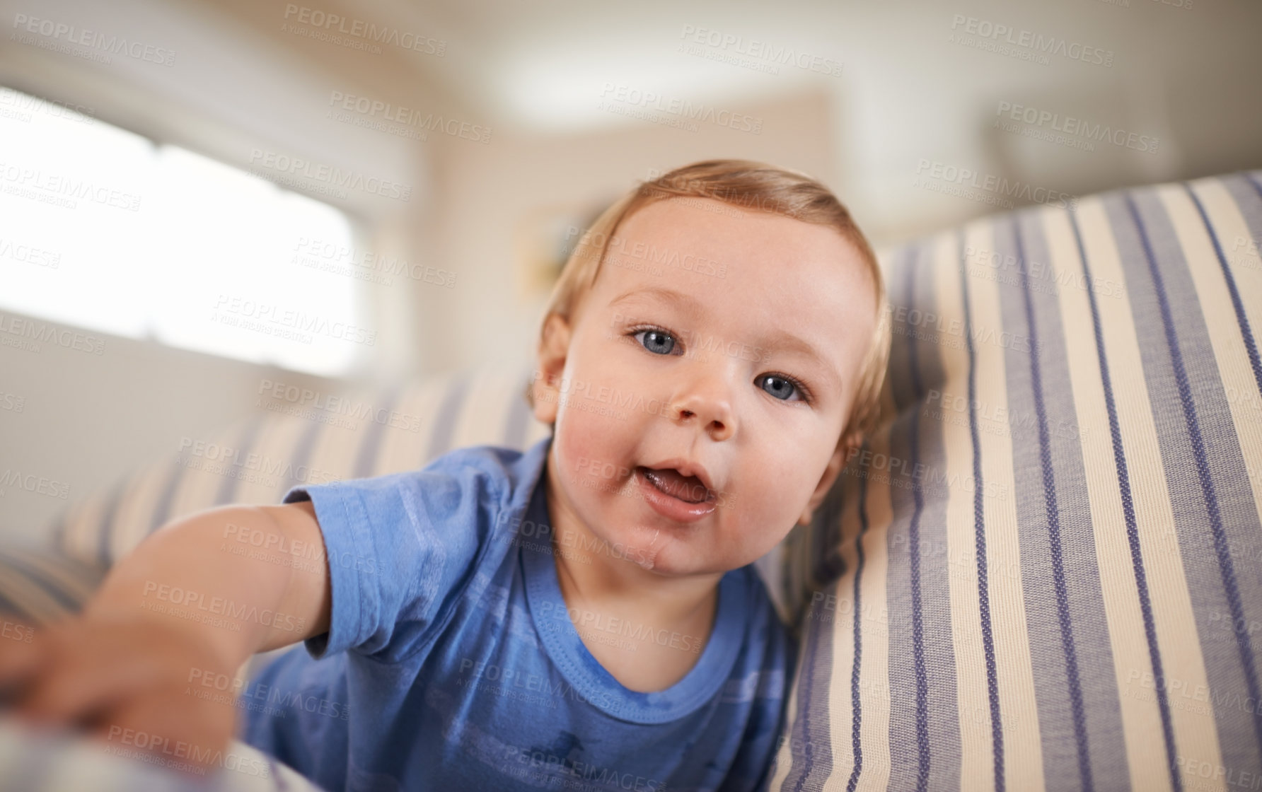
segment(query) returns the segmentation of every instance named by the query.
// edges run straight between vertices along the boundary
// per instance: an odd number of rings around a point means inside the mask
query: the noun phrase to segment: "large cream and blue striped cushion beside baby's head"
[[[771,788],[1262,784],[1262,172],[899,250]]]

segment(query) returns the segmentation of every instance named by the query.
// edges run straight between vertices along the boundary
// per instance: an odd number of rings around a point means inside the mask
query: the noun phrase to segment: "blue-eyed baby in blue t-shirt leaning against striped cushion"
[[[328,789],[762,788],[796,644],[751,562],[871,431],[883,305],[818,182],[666,173],[560,274],[528,395],[549,438],[178,520],[0,684],[32,719],[206,764],[237,729]],[[328,562],[232,552],[242,532]],[[215,624],[155,609],[162,586]],[[227,701],[191,694],[299,641]]]

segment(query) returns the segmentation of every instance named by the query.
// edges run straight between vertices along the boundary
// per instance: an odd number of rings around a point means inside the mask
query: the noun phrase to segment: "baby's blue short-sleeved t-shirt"
[[[623,687],[557,580],[550,440],[292,489],[324,535],[331,626],[245,689],[241,739],[328,789],[765,787],[796,644],[762,580],[723,575],[704,648],[652,637],[697,649],[679,682]],[[640,629],[601,620],[602,641]]]

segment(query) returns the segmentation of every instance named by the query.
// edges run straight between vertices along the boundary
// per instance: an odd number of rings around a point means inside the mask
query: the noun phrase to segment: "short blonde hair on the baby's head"
[[[570,320],[578,300],[596,282],[610,240],[622,221],[650,203],[669,198],[713,198],[733,207],[828,226],[859,251],[876,286],[876,328],[859,368],[854,405],[838,444],[852,433],[859,433],[862,438],[871,435],[877,428],[881,386],[890,359],[890,312],[886,306],[885,279],[872,246],[854,224],[846,206],[827,187],[793,170],[751,160],[714,159],[684,165],[640,183],[596,218],[569,255],[540,323],[540,347],[548,318],[558,314]],[[525,395],[534,409],[534,377],[526,386]]]

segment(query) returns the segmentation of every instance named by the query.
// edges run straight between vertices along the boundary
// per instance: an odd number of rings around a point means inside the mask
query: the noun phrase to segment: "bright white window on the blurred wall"
[[[0,88],[0,310],[324,376],[376,341],[339,209]]]

